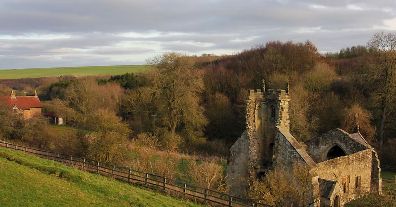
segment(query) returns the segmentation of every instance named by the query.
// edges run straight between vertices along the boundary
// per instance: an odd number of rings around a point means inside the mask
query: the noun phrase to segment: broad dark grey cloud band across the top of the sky
[[[386,2],[395,4],[391,0]],[[345,6],[347,2],[338,4]],[[392,17],[390,13],[379,10],[316,11],[295,1],[280,4],[276,1],[240,0],[7,0],[2,8],[0,32],[5,34],[147,30],[217,33],[296,25],[337,29],[372,26]]]

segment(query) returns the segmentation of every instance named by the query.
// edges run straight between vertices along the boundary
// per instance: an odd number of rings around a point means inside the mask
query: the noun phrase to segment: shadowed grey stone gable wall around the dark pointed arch
[[[339,145],[345,151],[346,155],[368,149],[368,147],[354,140],[352,136],[342,129],[333,129],[316,138],[304,142],[304,144],[307,146],[306,151],[308,155],[310,155],[316,163],[326,160],[326,155],[324,154],[327,154],[327,151],[334,144]]]

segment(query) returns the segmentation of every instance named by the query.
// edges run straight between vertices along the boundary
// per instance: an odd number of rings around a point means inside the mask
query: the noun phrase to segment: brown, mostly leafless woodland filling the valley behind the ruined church
[[[0,96],[37,90],[43,114],[55,112],[73,129],[50,133],[44,117],[28,122],[0,104],[0,137],[226,192],[223,167],[213,160],[197,165],[196,157],[228,156],[246,129],[247,92],[262,89],[263,80],[267,89],[285,89],[289,80],[290,131],[299,142],[358,125],[381,164],[396,166],[395,33],[379,31],[334,53],[321,54],[309,40],[271,41],[235,55],[168,52],[147,65],[135,74],[0,80]],[[268,204],[284,205],[267,190],[250,197],[269,195]]]

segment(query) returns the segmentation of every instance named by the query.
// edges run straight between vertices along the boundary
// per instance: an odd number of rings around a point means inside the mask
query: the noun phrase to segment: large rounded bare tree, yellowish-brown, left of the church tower
[[[208,123],[201,105],[202,71],[196,69],[190,58],[177,52],[150,58],[147,64],[155,67],[153,92],[162,124],[171,139],[177,137],[177,129],[187,141],[200,138]]]

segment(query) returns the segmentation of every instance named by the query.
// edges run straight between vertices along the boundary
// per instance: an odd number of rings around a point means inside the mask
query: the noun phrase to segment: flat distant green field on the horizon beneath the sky
[[[39,78],[61,75],[119,75],[147,71],[146,65],[114,65],[88,67],[48,67],[32,69],[0,70],[0,79]]]

